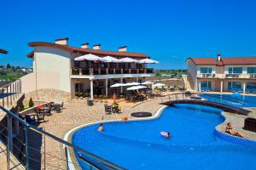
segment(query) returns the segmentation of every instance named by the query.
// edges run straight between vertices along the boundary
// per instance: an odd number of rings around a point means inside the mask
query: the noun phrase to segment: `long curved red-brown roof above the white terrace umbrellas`
[[[118,51],[103,51],[103,50],[95,50],[95,49],[85,49],[85,48],[75,48],[72,46],[66,46],[66,45],[60,45],[56,43],[51,43],[51,42],[29,42],[28,46],[30,47],[36,47],[36,46],[44,46],[44,47],[53,47],[53,48],[61,48],[63,50],[66,50],[71,53],[75,54],[96,54],[98,56],[107,56],[111,55],[116,58],[125,58],[125,57],[130,57],[130,58],[140,58],[140,59],[145,59],[149,58],[148,55],[146,54],[141,54],[141,53],[131,53],[131,52],[118,52]],[[28,58],[33,57],[33,51],[29,54],[26,55]]]

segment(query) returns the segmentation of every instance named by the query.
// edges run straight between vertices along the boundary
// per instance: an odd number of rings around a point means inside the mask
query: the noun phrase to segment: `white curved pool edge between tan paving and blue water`
[[[143,117],[143,118],[136,118],[136,119],[132,119],[132,120],[128,120],[128,121],[146,121],[146,120],[156,119],[156,118],[158,118],[162,114],[162,112],[166,109],[166,107],[168,107],[168,105],[162,106],[158,111],[156,111],[154,116]],[[78,127],[73,127],[72,129],[67,131],[67,133],[65,133],[63,139],[66,140],[67,142],[71,142],[71,141],[68,141],[68,139],[70,137],[72,137],[70,135],[73,134],[74,132],[78,131],[80,128],[88,127],[90,125],[94,125],[94,124],[98,124],[98,123],[106,123],[106,122],[123,122],[123,121],[117,120],[117,119],[112,119],[112,120],[106,120],[106,121],[97,121],[97,122],[85,123],[85,124],[80,125]],[[65,150],[66,144],[63,144],[62,147],[63,147],[63,150]],[[76,158],[74,157],[74,159],[76,159]],[[76,168],[73,165],[73,159],[72,159],[72,156],[70,156],[69,150],[67,150],[67,161],[68,161],[68,168],[70,170],[75,170]]]

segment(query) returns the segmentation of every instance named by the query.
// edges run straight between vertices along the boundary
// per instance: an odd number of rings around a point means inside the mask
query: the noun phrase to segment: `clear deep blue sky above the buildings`
[[[30,66],[27,42],[101,43],[142,52],[156,68],[185,68],[188,56],[256,56],[256,1],[1,1],[1,64]]]

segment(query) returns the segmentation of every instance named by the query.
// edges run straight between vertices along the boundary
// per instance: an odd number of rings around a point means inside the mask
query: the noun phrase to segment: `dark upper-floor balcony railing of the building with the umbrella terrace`
[[[72,75],[153,74],[154,69],[73,68]]]

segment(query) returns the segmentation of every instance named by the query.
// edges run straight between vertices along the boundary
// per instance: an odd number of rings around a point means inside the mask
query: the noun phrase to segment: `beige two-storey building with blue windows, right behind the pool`
[[[256,57],[188,58],[188,80],[198,91],[256,93]]]

